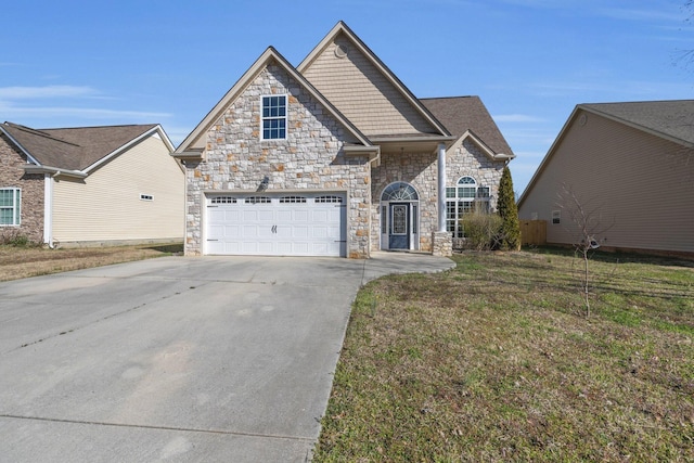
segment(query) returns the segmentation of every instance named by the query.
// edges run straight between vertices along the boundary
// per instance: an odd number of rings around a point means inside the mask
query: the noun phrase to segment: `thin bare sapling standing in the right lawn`
[[[564,183],[557,193],[556,204],[576,227],[571,230],[575,234],[574,246],[583,258],[581,293],[586,303],[586,317],[590,317],[589,260],[592,252],[600,247],[601,241],[604,241],[604,233],[614,226],[614,219],[611,223],[605,223],[602,217],[602,204],[593,206],[590,201],[582,201],[570,187]]]

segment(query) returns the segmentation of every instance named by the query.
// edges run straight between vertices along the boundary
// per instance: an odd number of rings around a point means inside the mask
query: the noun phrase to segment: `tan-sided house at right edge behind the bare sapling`
[[[694,100],[579,104],[518,202],[576,244],[570,196],[603,247],[694,255]],[[579,221],[580,222],[580,221]]]

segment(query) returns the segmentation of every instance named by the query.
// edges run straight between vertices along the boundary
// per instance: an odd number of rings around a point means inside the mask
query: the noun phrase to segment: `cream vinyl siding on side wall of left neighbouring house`
[[[152,136],[83,180],[57,178],[53,237],[60,243],[182,241],[183,190],[182,170],[166,144]]]

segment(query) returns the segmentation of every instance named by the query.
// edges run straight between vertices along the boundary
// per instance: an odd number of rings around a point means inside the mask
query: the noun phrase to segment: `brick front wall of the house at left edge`
[[[20,227],[0,227],[0,239],[22,234],[37,243],[43,242],[43,175],[27,175],[22,168],[26,164],[24,154],[10,140],[0,137],[0,188],[22,189]]]

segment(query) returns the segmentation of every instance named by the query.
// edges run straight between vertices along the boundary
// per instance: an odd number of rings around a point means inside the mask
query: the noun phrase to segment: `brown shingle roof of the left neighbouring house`
[[[82,170],[134,140],[156,124],[31,129],[12,123],[2,128],[42,166]]]

